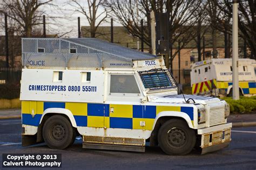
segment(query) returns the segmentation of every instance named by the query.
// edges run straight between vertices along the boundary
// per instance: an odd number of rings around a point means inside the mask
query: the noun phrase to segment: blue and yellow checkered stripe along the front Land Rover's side
[[[95,128],[152,130],[154,120],[161,111],[185,112],[193,124],[193,107],[39,101],[22,101],[22,123],[38,126],[44,110],[48,108],[68,109],[75,117],[77,126]],[[32,110],[35,114],[33,118]],[[141,121],[145,122],[145,126],[140,126]]]

